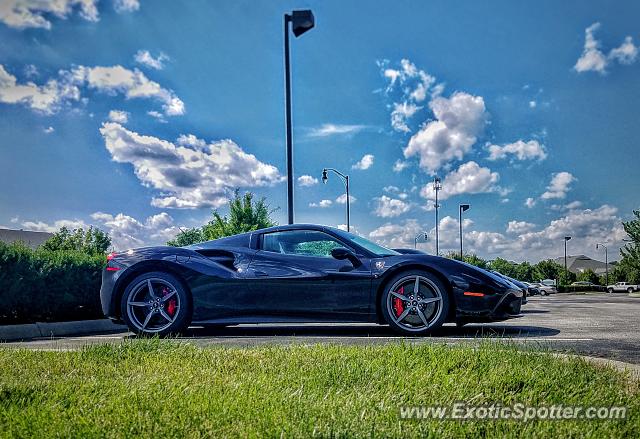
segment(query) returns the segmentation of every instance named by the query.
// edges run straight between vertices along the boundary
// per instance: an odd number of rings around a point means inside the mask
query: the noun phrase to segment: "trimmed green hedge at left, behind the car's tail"
[[[85,320],[100,308],[102,255],[0,242],[0,324]]]

